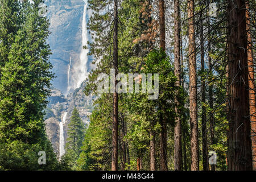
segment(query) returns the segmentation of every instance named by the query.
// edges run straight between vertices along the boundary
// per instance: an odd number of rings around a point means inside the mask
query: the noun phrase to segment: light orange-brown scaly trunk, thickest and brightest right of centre
[[[196,43],[194,1],[188,0],[188,38],[189,38],[189,105],[191,127],[191,170],[199,170],[199,140],[197,123],[197,83],[196,83]]]

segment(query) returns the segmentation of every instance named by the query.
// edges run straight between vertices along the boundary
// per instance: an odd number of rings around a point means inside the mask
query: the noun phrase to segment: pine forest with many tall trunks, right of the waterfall
[[[255,5],[90,0],[97,68],[85,94],[99,98],[79,168],[255,169]],[[112,68],[159,73],[158,100],[142,92],[98,94],[98,75]],[[216,165],[209,164],[210,151]]]

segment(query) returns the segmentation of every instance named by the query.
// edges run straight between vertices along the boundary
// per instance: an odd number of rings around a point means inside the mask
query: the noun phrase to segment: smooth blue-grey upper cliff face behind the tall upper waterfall
[[[53,65],[52,71],[56,75],[52,84],[67,96],[80,86],[77,86],[76,82],[84,76],[81,67],[86,73],[90,71],[92,57],[86,56],[86,65],[81,65],[81,59],[85,56],[80,57],[82,46],[86,46],[86,43],[83,43],[83,32],[86,34],[84,40],[90,40],[86,26],[83,27],[83,22],[86,25],[89,19],[89,10],[85,9],[84,0],[48,0],[46,4],[51,31],[48,38],[52,50],[50,61]]]

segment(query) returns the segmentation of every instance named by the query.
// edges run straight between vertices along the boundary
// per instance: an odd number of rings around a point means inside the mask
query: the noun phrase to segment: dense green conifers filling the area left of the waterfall
[[[49,23],[38,15],[40,2],[1,1],[1,13],[8,16],[0,22],[6,35],[0,41],[1,63],[5,63],[0,80],[0,153],[6,156],[0,160],[3,169],[57,168],[44,130],[44,109],[53,75],[46,43]],[[39,151],[46,151],[46,166],[37,163]]]

